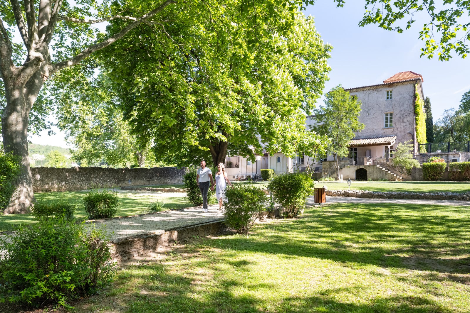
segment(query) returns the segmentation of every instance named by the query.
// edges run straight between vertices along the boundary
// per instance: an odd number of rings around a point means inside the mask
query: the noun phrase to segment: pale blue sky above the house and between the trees
[[[415,25],[402,34],[376,25],[359,27],[363,3],[349,0],[343,8],[337,8],[333,0],[317,0],[305,11],[305,15],[315,17],[317,31],[333,46],[329,60],[332,70],[324,92],[338,84],[345,88],[382,84],[390,76],[410,70],[423,76],[424,95],[431,99],[434,121],[445,109],[458,107],[462,95],[470,90],[470,56],[454,56],[445,62],[437,57],[420,58],[423,41],[418,39],[418,32],[426,22],[425,15],[416,15]],[[40,137],[30,136],[31,142],[67,147],[63,133],[55,131],[53,136],[47,136],[47,131]]]

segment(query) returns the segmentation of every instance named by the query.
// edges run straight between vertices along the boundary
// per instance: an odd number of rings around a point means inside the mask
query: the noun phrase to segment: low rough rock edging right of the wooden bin
[[[467,193],[455,192],[379,192],[364,190],[327,190],[327,196],[355,198],[384,198],[384,199],[430,199],[430,200],[469,200]]]

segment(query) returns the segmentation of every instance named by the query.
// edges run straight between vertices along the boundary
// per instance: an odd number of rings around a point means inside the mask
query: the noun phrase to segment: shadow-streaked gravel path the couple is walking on
[[[88,225],[108,230],[110,239],[114,240],[139,237],[145,234],[158,234],[165,230],[220,220],[223,220],[223,215],[219,212],[219,205],[209,205],[207,213],[203,213],[201,206],[196,206],[177,211],[98,220],[89,222]]]

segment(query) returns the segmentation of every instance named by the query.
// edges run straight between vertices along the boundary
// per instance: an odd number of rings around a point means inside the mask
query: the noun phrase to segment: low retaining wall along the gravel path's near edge
[[[224,221],[212,221],[203,224],[188,225],[178,229],[168,229],[160,234],[148,233],[137,237],[111,240],[111,257],[120,263],[126,260],[145,258],[159,248],[193,236],[215,235],[227,229]]]

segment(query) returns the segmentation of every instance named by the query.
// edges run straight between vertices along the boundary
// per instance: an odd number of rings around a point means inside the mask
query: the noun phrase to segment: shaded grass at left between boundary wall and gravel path
[[[87,214],[83,205],[83,198],[89,191],[63,191],[63,192],[39,192],[35,193],[37,201],[67,202],[77,204],[75,217],[78,220],[86,220]],[[173,192],[146,192],[146,191],[119,191],[119,210],[116,216],[130,216],[147,213],[149,203],[160,199],[164,203],[164,209],[180,209],[193,206],[186,199],[185,193]],[[31,214],[0,215],[0,231],[11,230],[20,224],[36,222]]]

